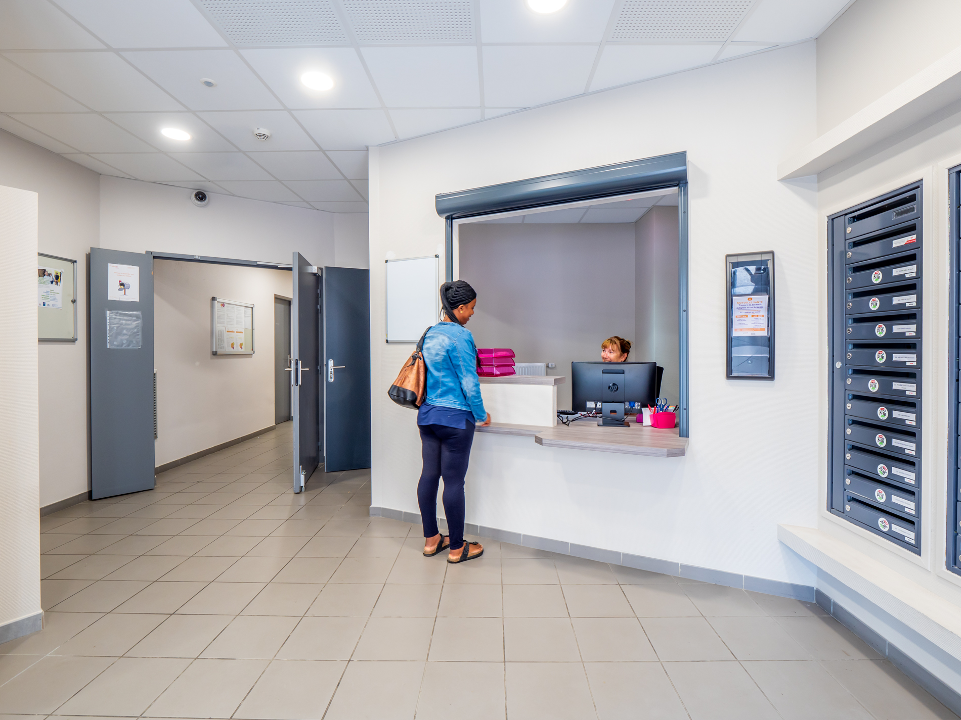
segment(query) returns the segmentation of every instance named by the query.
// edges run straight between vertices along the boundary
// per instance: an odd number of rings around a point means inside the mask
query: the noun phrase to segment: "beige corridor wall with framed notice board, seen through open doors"
[[[154,261],[158,466],[274,424],[274,296],[285,270]],[[253,355],[210,354],[210,298],[254,303]]]

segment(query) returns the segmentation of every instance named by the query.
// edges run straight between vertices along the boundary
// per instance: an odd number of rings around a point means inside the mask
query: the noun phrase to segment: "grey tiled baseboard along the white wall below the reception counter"
[[[407,511],[394,510],[393,508],[370,509],[373,517],[390,517],[395,520],[420,524],[421,516],[418,513],[408,513]],[[441,526],[445,523],[438,518]],[[536,535],[526,533],[515,533],[509,530],[477,525],[471,522],[464,523],[465,535],[477,535],[481,538],[490,538],[501,542],[512,542],[515,545],[532,547],[537,550],[548,550],[558,555],[569,555],[572,558],[584,558],[585,560],[596,560],[600,563],[610,563],[615,565],[625,565],[634,567],[638,570],[649,570],[665,575],[674,575],[684,580],[696,580],[703,583],[713,583],[714,585],[725,585],[729,588],[743,588],[753,592],[764,592],[768,595],[779,595],[790,597],[795,600],[806,602],[815,601],[814,588],[807,585],[797,585],[795,583],[785,583],[780,580],[769,580],[767,578],[756,578],[752,575],[738,575],[737,573],[725,570],[715,570],[710,567],[699,567],[698,565],[685,565],[674,563],[658,558],[648,558],[643,555],[631,555],[630,553],[618,550],[607,550],[603,547],[591,547],[590,545],[579,545],[576,542],[565,540],[553,540],[551,538],[540,538]]]

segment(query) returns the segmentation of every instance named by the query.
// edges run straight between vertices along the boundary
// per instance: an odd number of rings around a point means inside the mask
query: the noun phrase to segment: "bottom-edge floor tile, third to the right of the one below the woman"
[[[665,662],[663,667],[691,720],[780,717],[738,662]]]

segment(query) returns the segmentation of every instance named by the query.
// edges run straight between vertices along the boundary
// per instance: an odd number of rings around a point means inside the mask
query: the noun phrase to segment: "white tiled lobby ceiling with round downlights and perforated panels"
[[[366,212],[371,145],[815,37],[849,4],[0,0],[0,128],[105,175]]]

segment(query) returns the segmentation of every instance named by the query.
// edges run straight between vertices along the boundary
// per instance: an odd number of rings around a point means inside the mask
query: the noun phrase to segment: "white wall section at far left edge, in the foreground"
[[[38,630],[27,618],[41,612],[37,198],[0,186],[0,642]]]

